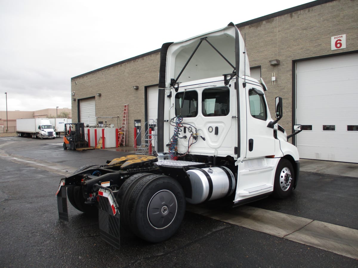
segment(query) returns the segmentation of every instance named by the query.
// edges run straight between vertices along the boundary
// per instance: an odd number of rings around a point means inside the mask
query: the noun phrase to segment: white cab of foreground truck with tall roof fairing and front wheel
[[[297,183],[299,155],[277,124],[282,99],[277,98],[277,116],[272,119],[267,87],[262,79],[250,77],[236,26],[166,43],[161,53],[159,159],[228,168],[235,178],[234,205],[272,193],[289,195]],[[284,174],[284,179],[276,179],[275,187],[275,177],[280,177],[276,173]]]

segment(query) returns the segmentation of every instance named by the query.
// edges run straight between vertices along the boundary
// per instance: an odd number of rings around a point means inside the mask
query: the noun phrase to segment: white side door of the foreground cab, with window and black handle
[[[260,86],[246,87],[247,149],[246,158],[275,154],[274,129],[267,127],[271,121],[265,94]]]

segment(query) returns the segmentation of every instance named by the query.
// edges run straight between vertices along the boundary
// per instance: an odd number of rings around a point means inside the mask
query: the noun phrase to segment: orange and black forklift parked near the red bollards
[[[88,148],[88,141],[84,138],[84,123],[65,124],[65,135],[63,137],[63,149],[76,150]]]

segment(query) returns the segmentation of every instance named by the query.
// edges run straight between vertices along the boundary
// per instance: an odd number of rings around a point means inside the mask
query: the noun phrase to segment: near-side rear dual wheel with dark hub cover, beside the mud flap
[[[118,192],[121,224],[149,242],[161,242],[175,234],[185,214],[181,185],[168,176],[135,174]]]

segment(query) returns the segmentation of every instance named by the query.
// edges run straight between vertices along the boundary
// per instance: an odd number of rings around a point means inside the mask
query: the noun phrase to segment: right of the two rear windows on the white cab
[[[202,93],[204,116],[225,116],[229,114],[230,91],[228,88],[208,88]]]

